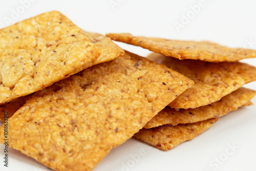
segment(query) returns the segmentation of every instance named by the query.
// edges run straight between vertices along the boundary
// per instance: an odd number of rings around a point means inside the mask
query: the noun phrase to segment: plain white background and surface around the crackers
[[[58,10],[80,28],[102,34],[129,32],[169,39],[210,40],[229,47],[256,49],[255,0],[205,0],[196,12],[191,7],[201,4],[199,0],[37,0],[26,4],[26,8],[22,7],[23,1],[0,1],[0,28]],[[12,16],[13,11],[20,14]],[[184,23],[187,14],[189,18]],[[8,19],[13,21],[9,23]],[[178,30],[175,23],[183,26]],[[139,47],[118,45],[141,56],[150,53]],[[256,66],[256,59],[243,61]],[[256,90],[256,82],[245,87]],[[256,103],[256,98],[252,102]],[[255,111],[256,105],[232,112],[208,131],[167,152],[130,139],[113,149],[94,170],[256,170]],[[232,150],[230,145],[236,147]],[[227,150],[233,153],[227,155]],[[50,170],[14,149],[9,151],[8,168],[3,166],[3,157],[4,146],[1,145],[0,170]]]

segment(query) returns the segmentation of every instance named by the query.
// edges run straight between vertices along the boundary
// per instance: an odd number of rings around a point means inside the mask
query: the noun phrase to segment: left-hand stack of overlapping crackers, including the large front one
[[[0,69],[0,142],[53,170],[92,170],[194,84],[56,11],[0,30]]]

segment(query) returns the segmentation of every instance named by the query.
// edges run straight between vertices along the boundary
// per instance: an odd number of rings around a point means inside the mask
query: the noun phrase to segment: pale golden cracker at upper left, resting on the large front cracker
[[[113,53],[96,60],[104,46]],[[0,30],[0,104],[123,54],[109,38],[82,33],[57,11],[23,20]]]

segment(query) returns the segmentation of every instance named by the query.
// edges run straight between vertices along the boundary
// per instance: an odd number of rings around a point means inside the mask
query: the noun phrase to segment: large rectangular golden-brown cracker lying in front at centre
[[[193,83],[127,52],[36,92],[9,119],[9,146],[54,170],[91,170]]]

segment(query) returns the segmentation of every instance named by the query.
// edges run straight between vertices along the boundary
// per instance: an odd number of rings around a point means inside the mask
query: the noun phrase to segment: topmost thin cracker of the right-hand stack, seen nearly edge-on
[[[209,41],[169,40],[164,38],[147,38],[133,36],[129,33],[109,33],[113,40],[140,46],[165,56],[178,59],[198,59],[209,62],[238,61],[256,57],[256,50],[228,48]]]

